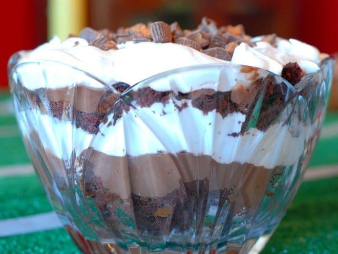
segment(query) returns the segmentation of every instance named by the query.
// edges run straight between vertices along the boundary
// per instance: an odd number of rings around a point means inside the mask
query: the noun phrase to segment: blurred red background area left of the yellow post
[[[7,62],[19,50],[47,40],[46,0],[3,1],[0,9],[0,89],[8,87]]]

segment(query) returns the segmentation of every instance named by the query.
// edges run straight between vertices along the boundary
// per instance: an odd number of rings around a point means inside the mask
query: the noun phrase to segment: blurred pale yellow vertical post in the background
[[[87,7],[85,0],[48,0],[48,38],[78,34],[87,26]]]

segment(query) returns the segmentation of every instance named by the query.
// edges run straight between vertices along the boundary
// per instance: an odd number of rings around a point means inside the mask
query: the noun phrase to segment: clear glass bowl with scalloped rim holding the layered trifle
[[[258,253],[308,166],[333,66],[324,59],[294,86],[230,62],[130,86],[16,59],[26,149],[84,253]]]

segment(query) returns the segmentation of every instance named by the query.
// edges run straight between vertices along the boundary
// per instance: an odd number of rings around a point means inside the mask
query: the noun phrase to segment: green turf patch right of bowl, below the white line
[[[338,253],[338,178],[302,184],[262,254]]]

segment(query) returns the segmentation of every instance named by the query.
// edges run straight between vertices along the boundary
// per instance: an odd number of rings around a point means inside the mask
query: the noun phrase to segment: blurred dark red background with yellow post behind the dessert
[[[275,32],[306,41],[329,54],[338,52],[336,0],[3,1],[0,89],[8,88],[6,66],[10,55],[35,48],[52,34],[65,38],[86,25],[115,30],[150,20],[178,21],[182,27],[192,29],[203,16],[215,19],[219,25],[243,24],[252,36]]]

